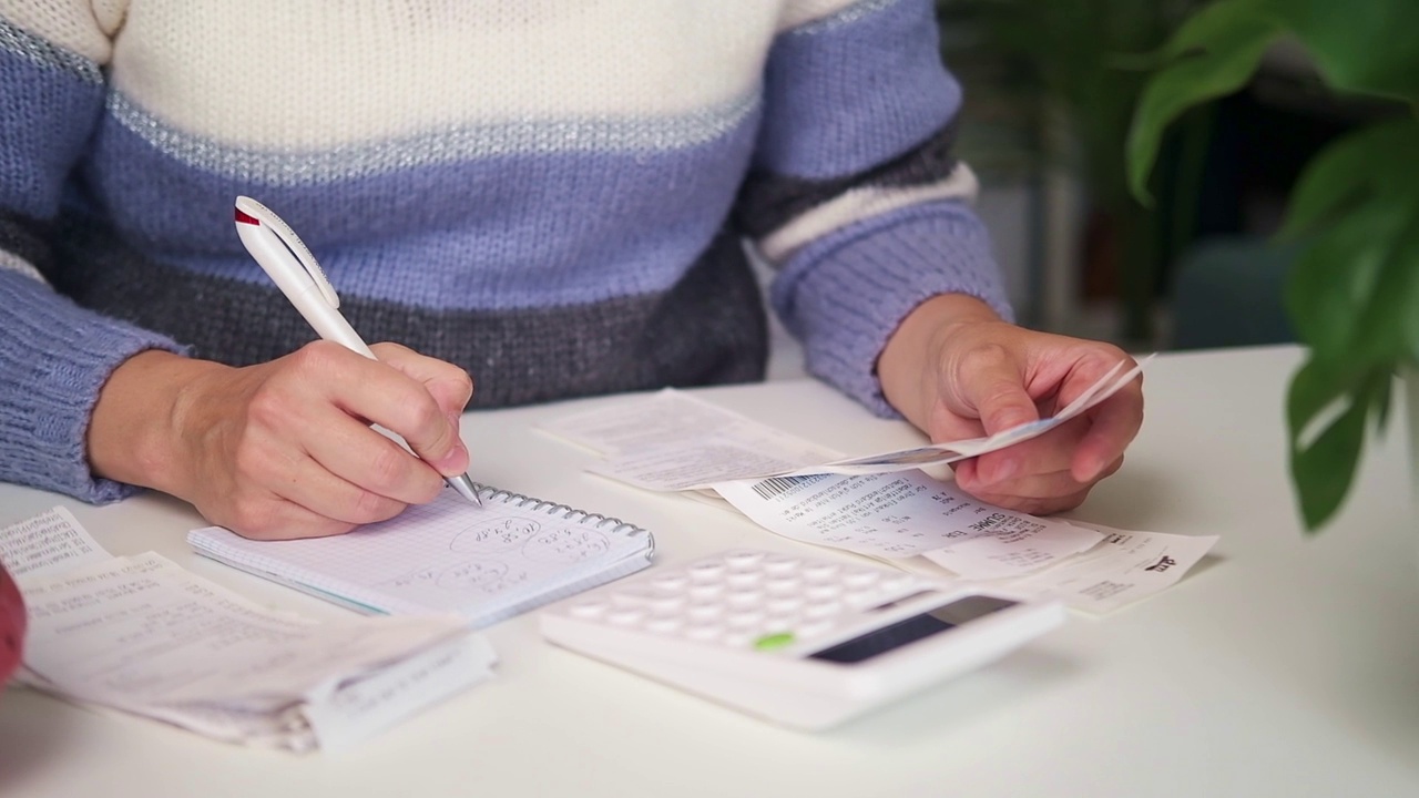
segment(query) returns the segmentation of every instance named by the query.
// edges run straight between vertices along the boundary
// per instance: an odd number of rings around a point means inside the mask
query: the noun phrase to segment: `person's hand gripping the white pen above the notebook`
[[[392,518],[467,470],[458,415],[473,382],[397,344],[372,349],[379,361],[316,341],[245,368],[140,352],[99,393],[91,467],[184,498],[251,538],[336,535]]]

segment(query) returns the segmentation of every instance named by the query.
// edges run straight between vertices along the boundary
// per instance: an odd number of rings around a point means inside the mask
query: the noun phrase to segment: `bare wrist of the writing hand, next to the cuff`
[[[99,390],[85,437],[95,476],[182,496],[182,419],[193,386],[219,364],[148,349],[123,361]]]

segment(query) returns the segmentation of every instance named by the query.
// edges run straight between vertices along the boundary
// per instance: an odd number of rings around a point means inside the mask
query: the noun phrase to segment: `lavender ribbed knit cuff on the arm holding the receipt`
[[[772,301],[805,342],[807,369],[880,416],[900,416],[883,396],[877,356],[917,305],[968,294],[1013,319],[979,219],[956,202],[885,213],[829,234],[788,263]]]

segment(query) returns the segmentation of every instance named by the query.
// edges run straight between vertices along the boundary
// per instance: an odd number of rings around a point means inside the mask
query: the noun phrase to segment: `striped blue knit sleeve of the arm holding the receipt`
[[[928,0],[858,0],[769,55],[736,220],[779,268],[771,300],[809,371],[880,415],[877,356],[918,304],[962,293],[1012,317],[951,153],[959,105]]]

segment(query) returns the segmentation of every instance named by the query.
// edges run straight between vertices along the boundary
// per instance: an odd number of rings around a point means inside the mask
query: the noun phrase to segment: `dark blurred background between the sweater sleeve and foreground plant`
[[[1393,108],[1324,91],[1298,47],[1169,131],[1152,207],[1124,143],[1151,54],[1198,0],[938,0],[965,88],[958,155],[982,182],[1020,321],[1131,351],[1290,341],[1267,243],[1301,166]]]

